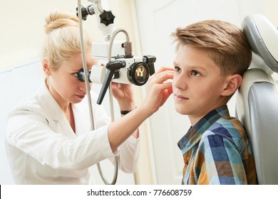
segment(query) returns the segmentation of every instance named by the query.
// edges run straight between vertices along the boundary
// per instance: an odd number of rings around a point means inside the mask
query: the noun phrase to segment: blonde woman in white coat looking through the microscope
[[[46,80],[33,97],[9,114],[6,152],[17,184],[89,184],[88,168],[119,155],[119,168],[134,173],[140,151],[140,124],[172,93],[173,71],[163,68],[150,77],[145,101],[135,109],[131,85],[113,85],[120,110],[131,111],[110,123],[91,94],[96,130],[90,131],[86,87],[77,72],[83,68],[76,14],[52,11],[46,17],[42,67]],[[91,40],[85,36],[91,69]]]

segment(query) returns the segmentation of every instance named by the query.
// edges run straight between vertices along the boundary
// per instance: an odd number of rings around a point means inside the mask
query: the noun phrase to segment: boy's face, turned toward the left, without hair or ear
[[[174,67],[175,109],[180,114],[187,114],[192,125],[212,109],[226,104],[222,96],[226,77],[204,50],[180,45]]]

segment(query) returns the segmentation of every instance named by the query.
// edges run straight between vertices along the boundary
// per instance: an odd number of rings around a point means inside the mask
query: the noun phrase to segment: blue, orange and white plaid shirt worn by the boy
[[[182,184],[257,184],[249,140],[226,105],[190,127],[177,145],[185,161]]]

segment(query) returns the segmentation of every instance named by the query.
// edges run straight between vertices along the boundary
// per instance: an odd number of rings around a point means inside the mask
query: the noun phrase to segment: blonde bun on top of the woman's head
[[[78,17],[76,14],[70,11],[55,10],[51,11],[51,13],[46,16],[44,31],[46,34],[49,34],[58,28],[63,28],[66,26],[78,27]]]

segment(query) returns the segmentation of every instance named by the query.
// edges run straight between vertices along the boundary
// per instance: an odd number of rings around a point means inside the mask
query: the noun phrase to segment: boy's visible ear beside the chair
[[[239,74],[230,75],[229,77],[227,77],[226,83],[227,84],[225,85],[225,88],[222,91],[222,96],[231,96],[240,87],[242,83],[242,76]]]

